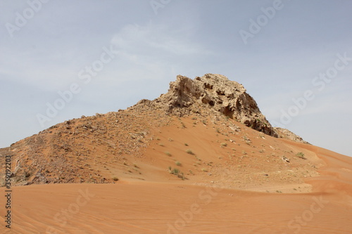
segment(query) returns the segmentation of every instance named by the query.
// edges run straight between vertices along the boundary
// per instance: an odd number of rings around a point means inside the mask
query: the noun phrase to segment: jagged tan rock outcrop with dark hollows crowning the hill
[[[140,103],[156,105],[179,116],[211,109],[237,119],[252,129],[277,137],[244,86],[221,74],[205,74],[195,79],[178,75],[175,82],[170,82],[168,93],[153,101],[142,100]]]

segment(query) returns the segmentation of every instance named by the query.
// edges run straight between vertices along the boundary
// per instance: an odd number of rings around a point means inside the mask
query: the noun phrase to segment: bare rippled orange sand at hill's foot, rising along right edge
[[[18,186],[12,229],[3,224],[1,233],[352,233],[352,159],[278,141],[325,162],[321,176],[305,181],[312,192],[258,193],[181,180]],[[1,223],[4,215],[1,209]]]

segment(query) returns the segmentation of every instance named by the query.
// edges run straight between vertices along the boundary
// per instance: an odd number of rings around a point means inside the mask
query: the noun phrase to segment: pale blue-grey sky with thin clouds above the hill
[[[0,148],[213,73],[272,125],[352,156],[351,12],[349,0],[1,0]]]

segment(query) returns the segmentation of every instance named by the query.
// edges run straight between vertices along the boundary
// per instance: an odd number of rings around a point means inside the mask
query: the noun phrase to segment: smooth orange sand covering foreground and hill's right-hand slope
[[[231,144],[241,154],[249,151],[248,144],[236,143],[241,134],[221,147],[218,139],[222,142],[227,136],[208,131],[211,124],[193,122],[191,117],[182,118],[186,126],[182,128],[175,118],[174,124],[158,129],[145,156],[134,159],[142,171],[135,178],[121,174],[119,181],[109,184],[13,187],[12,228],[4,227],[1,209],[1,233],[352,233],[351,157],[271,136],[256,138],[260,133],[238,124],[252,146],[263,148],[265,142],[268,151],[303,151],[307,160],[292,155],[287,163],[272,156],[277,163],[265,164],[267,157],[256,152],[238,162],[235,153],[234,163],[226,157]],[[188,148],[195,155],[184,152]],[[201,159],[198,167],[193,165],[195,157]],[[188,179],[168,173],[175,160],[182,162],[181,171],[193,169],[193,174],[185,175]],[[283,175],[277,173],[280,163]],[[252,167],[247,171],[230,167],[238,164]],[[317,174],[308,171],[307,164],[315,164]],[[287,178],[287,170],[295,168],[306,173],[303,181]],[[259,173],[264,178],[260,180],[258,171],[267,171],[268,176]],[[272,179],[265,181],[267,177]]]

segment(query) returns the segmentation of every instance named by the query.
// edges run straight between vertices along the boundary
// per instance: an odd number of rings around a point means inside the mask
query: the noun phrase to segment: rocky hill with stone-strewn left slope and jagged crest
[[[183,122],[182,119],[184,119]],[[127,110],[108,112],[105,115],[96,114],[92,117],[81,117],[56,124],[39,134],[13,143],[9,148],[1,149],[0,155],[12,156],[11,177],[15,185],[115,183],[118,178],[152,180],[151,171],[154,170],[155,173],[165,173],[165,171],[161,168],[156,169],[155,165],[151,166],[155,163],[155,158],[153,156],[149,158],[147,152],[150,148],[154,149],[153,145],[158,145],[156,141],[158,141],[158,135],[165,131],[163,129],[174,126],[177,121],[180,121],[182,129],[187,128],[185,122],[192,122],[194,129],[198,126],[204,126],[207,129],[203,134],[211,133],[211,137],[219,137],[221,134],[225,137],[223,141],[231,140],[230,142],[237,146],[241,145],[237,143],[239,141],[246,143],[244,149],[247,146],[262,147],[263,149],[258,152],[263,153],[264,148],[268,147],[266,151],[271,155],[275,155],[277,147],[272,146],[274,143],[270,145],[260,134],[303,142],[290,131],[274,129],[260,112],[256,101],[246,93],[246,89],[241,84],[230,81],[220,74],[206,74],[195,79],[179,75],[175,82],[170,83],[168,93],[155,100],[141,100]],[[253,130],[246,130],[246,126],[256,130],[257,136],[253,134]],[[241,129],[243,136],[239,134]],[[199,131],[203,130],[199,129]],[[173,133],[170,133],[169,141],[175,138],[175,136],[171,137],[172,135]],[[229,140],[230,136],[234,138]],[[263,141],[260,143],[263,146],[251,145],[249,136],[260,139],[260,142]],[[212,140],[204,141],[207,142],[199,140],[197,144],[213,144]],[[222,148],[224,145],[227,143],[224,142]],[[282,146],[282,148],[285,147]],[[253,149],[251,152],[255,157]],[[285,148],[283,152],[294,153],[289,148]],[[216,153],[229,154],[225,148]],[[168,155],[168,153],[165,154]],[[246,154],[241,157],[246,157]],[[282,155],[279,157],[277,160],[281,162]],[[150,160],[148,163],[143,161],[146,158]],[[198,160],[201,159],[198,158]],[[5,165],[4,157],[0,157],[0,161],[1,165]],[[215,162],[214,159],[208,159],[208,161]],[[144,164],[144,167],[138,164]],[[1,169],[1,179],[4,178],[3,169]],[[4,181],[0,183],[4,185]]]

